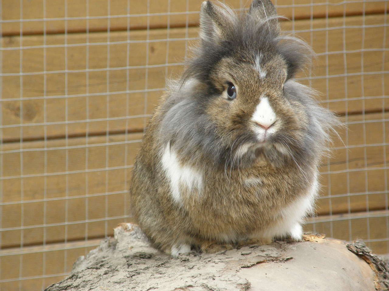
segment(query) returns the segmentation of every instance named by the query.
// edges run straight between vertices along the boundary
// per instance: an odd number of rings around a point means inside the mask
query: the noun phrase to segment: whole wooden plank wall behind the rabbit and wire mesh
[[[2,0],[0,289],[58,281],[129,220],[142,130],[165,77],[182,72],[196,43],[201,2]],[[301,82],[348,125],[323,161],[318,216],[306,230],[388,253],[387,3],[290,3],[276,1],[294,20],[283,30],[318,54]]]

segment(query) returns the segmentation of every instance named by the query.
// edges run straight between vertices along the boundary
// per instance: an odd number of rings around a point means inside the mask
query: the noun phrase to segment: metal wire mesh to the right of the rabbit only
[[[349,73],[347,71],[347,59],[346,59],[346,54],[347,52],[347,49],[345,47],[345,44],[346,44],[346,40],[345,40],[345,37],[346,37],[346,29],[349,28],[349,26],[346,25],[346,16],[345,16],[345,11],[343,11],[343,50],[342,51],[337,51],[337,52],[331,52],[331,51],[328,51],[328,42],[329,42],[329,39],[328,39],[328,33],[327,33],[327,36],[326,36],[326,44],[327,44],[327,50],[326,50],[326,63],[328,64],[328,55],[331,55],[331,54],[339,54],[339,53],[342,53],[343,54],[343,62],[344,62],[344,73],[343,74],[338,74],[336,76],[341,76],[344,78],[344,85],[345,85],[345,94],[344,94],[344,97],[343,99],[345,100],[362,100],[362,108],[361,108],[361,115],[362,115],[362,120],[361,121],[350,121],[349,120],[349,115],[348,115],[348,102],[345,102],[345,125],[347,126],[352,126],[352,125],[356,125],[356,124],[359,124],[359,125],[362,125],[362,132],[361,134],[363,135],[363,144],[361,145],[350,145],[349,144],[349,132],[346,130],[345,131],[345,137],[344,137],[344,144],[342,147],[335,147],[333,148],[333,150],[337,150],[337,149],[343,149],[345,148],[346,151],[345,151],[345,156],[346,156],[346,163],[345,163],[345,169],[344,170],[340,170],[340,171],[331,171],[330,169],[330,162],[328,161],[328,164],[327,164],[327,171],[322,171],[321,174],[322,175],[327,175],[328,176],[328,194],[325,195],[325,196],[321,196],[319,199],[328,199],[328,203],[329,203],[329,217],[327,218],[324,218],[324,219],[320,219],[320,218],[316,218],[316,217],[313,217],[313,219],[309,222],[309,223],[312,223],[312,229],[315,231],[315,225],[316,223],[318,222],[328,222],[329,223],[329,233],[328,235],[331,236],[331,237],[334,237],[334,232],[333,232],[333,222],[336,222],[336,221],[345,221],[348,223],[348,234],[345,234],[342,239],[348,239],[348,240],[352,240],[352,239],[357,239],[359,237],[357,237],[355,234],[353,234],[353,228],[352,228],[352,222],[353,220],[360,220],[360,219],[366,219],[366,233],[365,233],[365,236],[363,237],[363,240],[364,242],[366,242],[369,246],[371,243],[373,242],[386,242],[386,253],[389,253],[389,213],[388,213],[388,196],[387,196],[387,193],[388,193],[388,187],[387,187],[387,174],[386,174],[386,170],[387,170],[387,163],[386,163],[386,146],[388,145],[387,143],[387,127],[385,127],[385,123],[388,121],[388,119],[385,117],[385,98],[387,98],[387,96],[385,95],[385,81],[384,81],[384,74],[387,74],[388,71],[385,70],[385,62],[387,62],[387,60],[385,60],[385,52],[387,51],[387,45],[386,45],[386,31],[387,31],[387,22],[386,22],[386,15],[387,15],[387,2],[385,2],[385,17],[384,17],[384,23],[380,24],[379,26],[382,25],[383,27],[383,35],[382,35],[382,48],[380,49],[366,49],[365,46],[365,29],[368,28],[368,27],[372,27],[371,25],[366,25],[365,24],[365,2],[363,2],[363,15],[362,15],[362,19],[363,19],[363,24],[361,26],[362,28],[362,43],[361,43],[361,49],[359,50],[354,50],[354,52],[361,52],[361,72],[358,72],[358,73]],[[328,15],[326,16],[327,19],[328,19]],[[328,32],[328,30],[327,30]],[[378,38],[381,38],[381,36],[377,36]],[[369,95],[366,95],[364,93],[364,84],[365,84],[365,81],[364,81],[364,77],[365,76],[368,76],[369,74],[376,74],[377,72],[365,72],[364,71],[364,67],[365,67],[365,64],[364,64],[364,52],[368,52],[368,51],[374,51],[374,52],[377,52],[377,59],[380,59],[382,60],[382,69],[381,69],[381,73],[382,73],[382,76],[381,76],[381,87],[382,87],[382,95],[381,96],[369,96]],[[381,55],[380,55],[381,53]],[[348,82],[347,82],[347,79],[350,77],[350,76],[353,76],[353,75],[356,75],[356,76],[360,76],[360,82],[361,82],[361,90],[362,90],[362,94],[361,96],[359,97],[349,97],[348,95]],[[335,75],[330,75],[328,73],[328,66],[327,66],[327,74],[325,76],[326,78],[326,82],[327,82],[327,92],[326,92],[326,96],[327,96],[327,102],[336,102],[336,100],[328,100],[328,80],[329,78],[331,77],[335,77]],[[310,76],[310,78],[312,79],[312,77]],[[377,118],[377,119],[374,119],[374,120],[366,120],[366,111],[365,111],[365,100],[369,100],[369,99],[381,99],[382,98],[382,112],[381,112],[381,118]],[[340,100],[340,99],[338,99]],[[380,123],[382,125],[382,140],[374,140],[374,141],[371,141],[371,140],[367,140],[366,139],[366,125],[369,124],[369,123]],[[382,142],[380,142],[382,141]],[[354,169],[350,169],[349,168],[349,152],[350,150],[352,149],[355,149],[355,148],[363,148],[363,151],[364,151],[364,163],[363,163],[363,166],[361,166],[360,168],[354,168]],[[382,158],[383,158],[383,166],[377,166],[377,167],[371,167],[368,165],[368,161],[367,161],[367,157],[368,157],[368,154],[367,154],[367,149],[368,148],[371,148],[371,147],[381,147],[382,148]],[[374,213],[373,211],[370,211],[370,207],[369,207],[369,196],[370,195],[373,195],[373,194],[379,194],[381,193],[382,191],[369,191],[368,189],[368,172],[369,171],[375,171],[375,170],[382,170],[384,173],[382,175],[382,178],[383,178],[383,192],[385,192],[386,194],[384,195],[384,199],[382,201],[382,204],[385,208],[385,212],[380,212],[380,213]],[[364,192],[353,192],[350,190],[350,185],[352,184],[352,180],[350,180],[350,173],[352,172],[357,172],[357,171],[362,171],[364,172],[364,180],[365,180],[365,191]],[[331,178],[330,178],[330,174],[334,174],[334,173],[345,173],[346,174],[346,185],[347,185],[347,191],[343,194],[334,194],[334,193],[331,193]],[[350,207],[350,197],[351,196],[365,196],[365,201],[366,201],[366,212],[363,213],[363,214],[356,214],[356,215],[352,215],[352,211],[351,211],[351,207]],[[347,197],[347,213],[346,215],[342,215],[342,216],[338,216],[338,217],[335,217],[333,216],[333,213],[332,213],[332,199],[331,198],[336,198],[336,197]],[[380,217],[380,218],[385,218],[385,223],[384,225],[382,225],[382,236],[380,238],[375,238],[375,239],[371,239],[370,237],[370,225],[371,223],[374,223],[374,222],[371,222],[371,218],[376,218],[376,217]],[[335,236],[336,237],[336,236]]]

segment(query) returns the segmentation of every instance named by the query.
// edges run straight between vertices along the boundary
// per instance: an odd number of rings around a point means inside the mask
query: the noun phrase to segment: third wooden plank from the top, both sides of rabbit
[[[318,215],[385,208],[388,120],[389,113],[347,118],[347,135],[340,130],[342,140],[321,167]],[[131,133],[23,142],[22,154],[19,143],[4,144],[2,247],[19,245],[22,235],[24,245],[112,235],[130,219],[128,182],[141,139]]]

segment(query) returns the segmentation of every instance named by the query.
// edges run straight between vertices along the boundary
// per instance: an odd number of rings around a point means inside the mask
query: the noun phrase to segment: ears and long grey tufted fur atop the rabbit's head
[[[200,45],[188,61],[182,81],[191,77],[207,81],[209,73],[221,59],[236,56],[237,61],[247,61],[262,50],[284,57],[288,64],[288,79],[310,64],[314,53],[307,43],[297,37],[280,34],[279,19],[285,17],[277,16],[275,9],[272,9],[272,14],[263,12],[263,6],[272,5],[270,1],[254,1],[249,12],[241,15],[235,14],[223,3],[217,4],[203,2]],[[209,10],[209,13],[216,14],[217,11],[223,15],[223,21],[209,19],[206,13]]]

